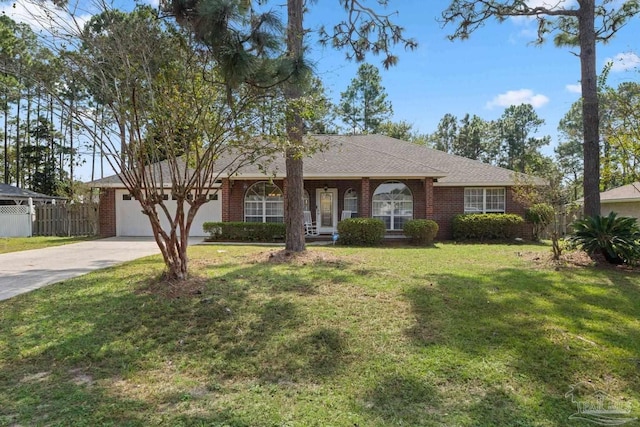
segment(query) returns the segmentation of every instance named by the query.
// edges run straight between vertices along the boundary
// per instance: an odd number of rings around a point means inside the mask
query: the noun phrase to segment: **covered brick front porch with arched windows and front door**
[[[379,218],[393,237],[407,220],[433,218],[433,182],[431,177],[305,179],[304,210],[317,226],[317,238],[330,238],[340,220],[353,217]],[[283,222],[286,194],[286,178],[224,179],[222,220]]]

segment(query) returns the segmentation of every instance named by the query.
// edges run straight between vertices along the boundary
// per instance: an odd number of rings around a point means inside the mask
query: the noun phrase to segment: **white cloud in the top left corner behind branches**
[[[84,11],[77,4],[70,2],[68,10],[60,9],[51,1],[34,2],[17,0],[0,5],[0,13],[16,22],[28,24],[35,32],[75,32],[82,28],[91,18],[91,13]]]

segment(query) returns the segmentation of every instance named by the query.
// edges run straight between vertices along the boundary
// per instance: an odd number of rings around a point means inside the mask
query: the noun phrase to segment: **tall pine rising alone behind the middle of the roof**
[[[353,134],[378,133],[380,124],[393,114],[377,67],[362,64],[356,77],[340,94],[338,115]]]

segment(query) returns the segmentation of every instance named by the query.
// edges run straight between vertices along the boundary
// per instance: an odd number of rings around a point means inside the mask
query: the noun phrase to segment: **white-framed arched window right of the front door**
[[[402,230],[405,221],[413,219],[413,196],[401,182],[385,182],[373,193],[373,217],[384,221],[387,230]]]

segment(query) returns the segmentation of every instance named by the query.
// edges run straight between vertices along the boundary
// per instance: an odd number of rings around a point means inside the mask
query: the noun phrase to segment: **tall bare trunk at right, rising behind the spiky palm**
[[[580,0],[580,68],[584,128],[584,214],[600,215],[600,135],[596,73],[595,1]]]

